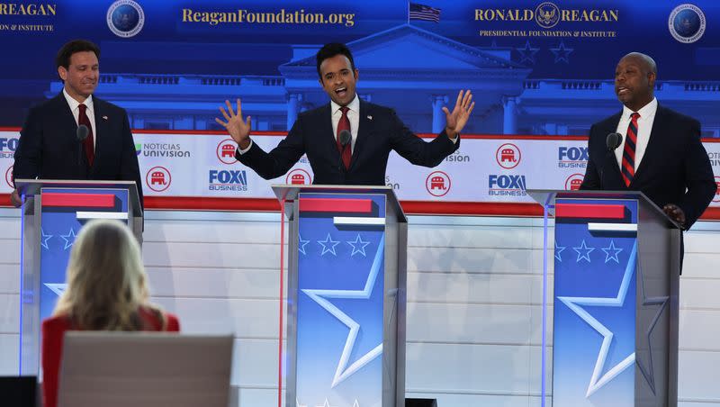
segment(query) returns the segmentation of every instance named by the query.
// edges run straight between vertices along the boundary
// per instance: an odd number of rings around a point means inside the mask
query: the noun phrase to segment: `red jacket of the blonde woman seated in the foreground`
[[[139,309],[142,330],[179,332],[180,322],[171,313],[163,313],[165,325],[155,312]],[[42,321],[42,400],[45,407],[58,405],[58,375],[62,360],[62,344],[67,330],[77,330],[67,316],[54,316]]]

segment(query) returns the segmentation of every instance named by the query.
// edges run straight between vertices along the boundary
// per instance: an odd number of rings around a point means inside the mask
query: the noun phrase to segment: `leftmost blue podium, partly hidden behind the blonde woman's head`
[[[80,228],[91,219],[117,219],[141,242],[142,206],[133,181],[17,179],[15,186],[23,199],[20,375],[38,375],[40,324],[65,290]]]

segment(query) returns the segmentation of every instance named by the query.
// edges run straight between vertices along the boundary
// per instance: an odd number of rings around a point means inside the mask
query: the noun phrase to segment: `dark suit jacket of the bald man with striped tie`
[[[590,161],[581,189],[641,191],[661,208],[675,203],[685,212],[685,227],[689,228],[705,212],[717,188],[713,168],[700,142],[700,123],[658,105],[643,160],[628,187],[615,153],[606,147],[606,138],[617,131],[621,114],[590,127]]]

